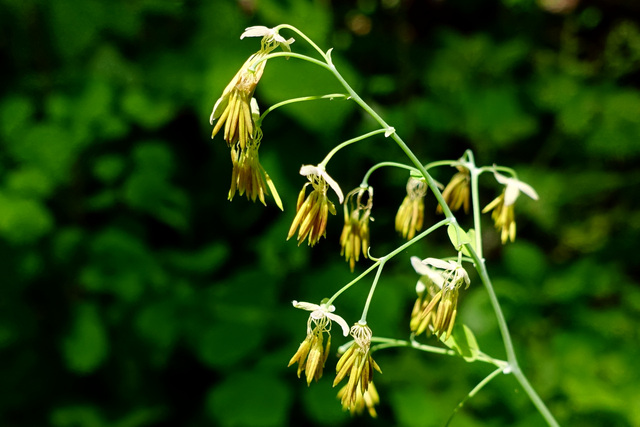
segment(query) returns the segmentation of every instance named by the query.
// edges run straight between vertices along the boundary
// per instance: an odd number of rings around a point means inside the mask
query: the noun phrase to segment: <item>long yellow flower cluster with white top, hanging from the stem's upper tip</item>
[[[294,40],[285,40],[274,30],[263,26],[247,28],[240,39],[245,37],[262,37],[261,49],[245,61],[213,106],[209,122],[213,125],[217,120],[217,123],[211,138],[224,127],[224,140],[231,150],[233,165],[229,200],[233,200],[236,191],[240,195],[246,192],[248,199],[254,202],[260,199],[266,205],[265,194],[271,190],[276,204],[282,210],[276,187],[260,165],[258,157],[262,131],[258,123],[260,111],[253,93],[262,78],[267,55],[278,46],[290,51],[289,45]]]

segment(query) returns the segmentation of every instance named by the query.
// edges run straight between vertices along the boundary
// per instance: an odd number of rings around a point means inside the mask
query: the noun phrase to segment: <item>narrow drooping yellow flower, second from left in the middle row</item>
[[[367,195],[366,203],[363,196]],[[373,207],[373,188],[356,188],[347,194],[344,202],[344,227],[340,235],[340,255],[351,267],[360,259],[360,252],[368,258],[369,252],[369,221]]]

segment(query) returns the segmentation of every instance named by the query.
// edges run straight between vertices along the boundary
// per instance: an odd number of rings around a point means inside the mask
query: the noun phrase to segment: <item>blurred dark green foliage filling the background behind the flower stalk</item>
[[[280,23],[335,47],[347,80],[425,162],[472,148],[536,188],[539,202],[518,204],[516,243],[484,229],[523,368],[563,425],[640,425],[639,20],[633,0],[0,0],[0,425],[438,426],[488,374],[380,352],[370,421],[341,411],[328,378],[307,388],[286,368],[307,318],[290,301],[318,302],[353,277],[340,215],[313,250],[284,241],[298,168],[372,125],[340,100],[270,114],[261,159],[285,212],[227,202],[228,151],[209,141],[209,113],[258,49],[243,29]],[[336,90],[319,68],[273,60],[256,96],[266,108]],[[348,190],[389,159],[399,150],[371,140],[331,173]],[[374,254],[400,243],[405,180],[372,178]],[[482,188],[487,202],[496,191]],[[409,255],[448,251],[436,235],[388,264],[374,333],[407,336]],[[348,321],[365,282],[337,301]],[[481,287],[460,313],[503,357]],[[543,421],[504,377],[453,425]]]

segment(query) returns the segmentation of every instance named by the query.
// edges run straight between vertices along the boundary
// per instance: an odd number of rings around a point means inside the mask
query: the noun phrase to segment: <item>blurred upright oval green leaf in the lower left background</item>
[[[79,374],[88,374],[107,358],[109,341],[95,305],[79,304],[75,308],[69,333],[62,342],[67,367]]]

